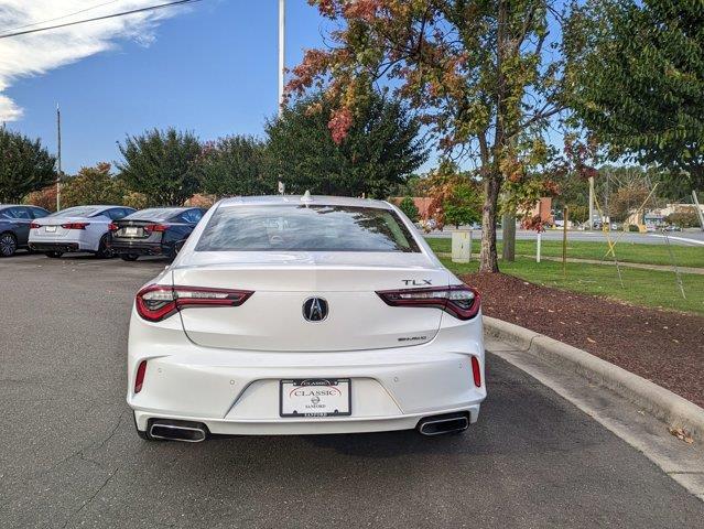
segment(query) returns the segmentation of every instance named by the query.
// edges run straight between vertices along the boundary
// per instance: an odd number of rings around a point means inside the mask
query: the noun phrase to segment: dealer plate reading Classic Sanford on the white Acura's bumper
[[[349,378],[295,378],[280,381],[281,417],[351,414]]]

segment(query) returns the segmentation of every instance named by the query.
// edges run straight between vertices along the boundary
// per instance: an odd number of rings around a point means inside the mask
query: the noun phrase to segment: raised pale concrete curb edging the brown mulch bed
[[[517,345],[524,353],[605,386],[670,428],[683,428],[704,440],[704,409],[626,369],[543,334],[484,316],[486,336]]]

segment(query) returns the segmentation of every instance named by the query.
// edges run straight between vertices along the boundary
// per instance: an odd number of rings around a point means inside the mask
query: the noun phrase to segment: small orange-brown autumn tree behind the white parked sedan
[[[85,204],[123,204],[124,185],[110,174],[110,164],[80,168],[78,174],[66,179],[62,186],[62,207]]]

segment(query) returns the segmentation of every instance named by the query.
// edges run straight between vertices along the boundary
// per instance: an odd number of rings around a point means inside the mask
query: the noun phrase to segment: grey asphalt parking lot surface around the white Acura
[[[702,527],[704,503],[495,356],[464,435],[147,443],[127,328],[164,264],[0,260],[0,527]]]

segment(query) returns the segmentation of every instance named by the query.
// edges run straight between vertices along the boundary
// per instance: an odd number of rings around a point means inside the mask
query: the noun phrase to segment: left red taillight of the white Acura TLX
[[[160,322],[193,306],[239,306],[252,294],[249,290],[151,284],[137,293],[134,303],[142,319]]]

